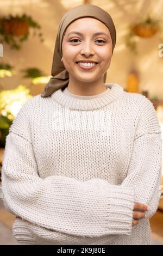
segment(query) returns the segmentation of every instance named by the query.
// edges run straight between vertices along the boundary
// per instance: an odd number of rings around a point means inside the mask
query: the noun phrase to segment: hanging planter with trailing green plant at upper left
[[[1,17],[0,43],[7,42],[11,48],[20,50],[22,42],[28,39],[30,28],[34,29],[34,35],[36,34],[36,30],[39,31],[38,36],[40,41],[43,42],[44,39],[40,32],[41,26],[34,21],[32,17],[27,16],[26,14]]]

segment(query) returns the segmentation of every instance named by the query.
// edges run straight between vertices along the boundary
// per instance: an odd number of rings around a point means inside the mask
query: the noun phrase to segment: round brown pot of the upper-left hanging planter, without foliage
[[[29,25],[26,20],[10,19],[2,21],[2,28],[5,35],[23,36],[28,32]]]

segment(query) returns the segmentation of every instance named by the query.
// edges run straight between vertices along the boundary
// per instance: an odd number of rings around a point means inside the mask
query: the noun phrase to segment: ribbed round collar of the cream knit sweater
[[[117,83],[104,83],[106,92],[92,95],[92,96],[80,96],[71,94],[70,92],[64,92],[61,89],[56,90],[52,95],[52,99],[58,102],[61,106],[74,110],[93,110],[99,109],[109,105],[112,101],[121,97],[124,90]],[[86,97],[86,98],[84,98]]]

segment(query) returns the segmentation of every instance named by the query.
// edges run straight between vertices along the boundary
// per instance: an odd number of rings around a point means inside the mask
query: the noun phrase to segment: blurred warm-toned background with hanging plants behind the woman
[[[1,0],[0,175],[5,137],[12,121],[30,97],[43,92],[51,77],[61,17],[81,4],[98,5],[115,23],[117,42],[106,82],[148,97],[163,133],[162,0]],[[159,208],[150,220],[154,245],[163,245],[162,191],[163,167]],[[0,245],[17,245],[12,236],[14,220],[0,199]]]

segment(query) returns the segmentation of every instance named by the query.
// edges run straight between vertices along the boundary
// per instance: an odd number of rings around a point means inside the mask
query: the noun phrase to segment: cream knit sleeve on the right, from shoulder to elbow
[[[145,96],[141,117],[136,127],[134,146],[127,177],[121,186],[134,189],[134,200],[149,206],[145,221],[155,214],[161,185],[162,138],[161,129],[152,102]]]

